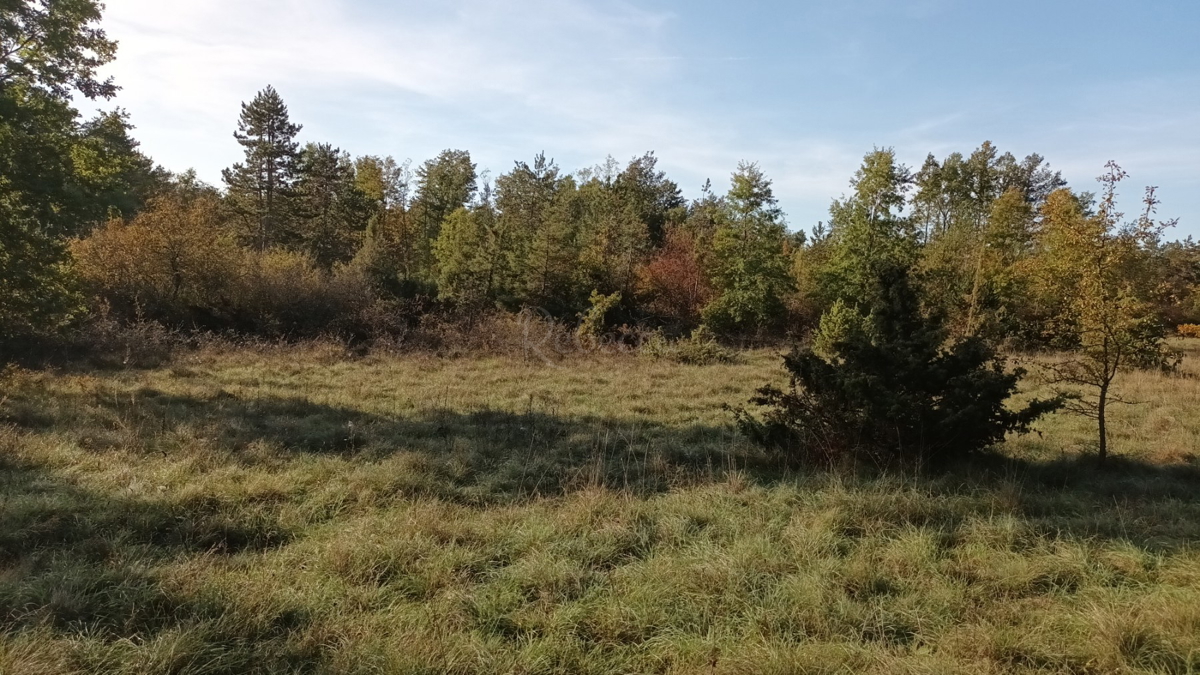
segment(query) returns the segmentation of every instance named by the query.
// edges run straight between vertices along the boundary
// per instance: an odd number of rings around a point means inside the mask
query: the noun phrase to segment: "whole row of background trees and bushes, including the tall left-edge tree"
[[[845,315],[866,270],[902,263],[954,335],[1069,348],[1086,291],[1076,258],[1109,239],[1122,262],[1099,287],[1144,305],[1157,330],[1200,322],[1200,247],[1147,225],[1153,192],[1126,222],[1120,168],[1097,195],[1068,186],[1039,155],[991,143],[917,169],[875,149],[828,221],[793,232],[754,163],[691,201],[653,153],[575,173],[542,154],[490,180],[464,150],[414,168],[301,145],[301,125],[268,86],[242,106],[242,161],[220,187],[205,185],[155,166],[125,113],[83,120],[74,109],[73,96],[116,92],[96,74],[115,54],[98,19],[91,0],[18,2],[0,25],[10,336],[101,310],[276,335],[336,333],[401,306],[539,307],[574,321],[596,298],[614,325],[799,336]]]

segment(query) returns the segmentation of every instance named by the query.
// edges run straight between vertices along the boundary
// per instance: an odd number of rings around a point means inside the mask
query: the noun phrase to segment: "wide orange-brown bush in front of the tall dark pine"
[[[130,324],[271,338],[365,338],[388,323],[370,315],[376,300],[362,271],[326,273],[304,253],[242,249],[218,214],[215,198],[167,197],[132,222],[74,241],[95,305]]]

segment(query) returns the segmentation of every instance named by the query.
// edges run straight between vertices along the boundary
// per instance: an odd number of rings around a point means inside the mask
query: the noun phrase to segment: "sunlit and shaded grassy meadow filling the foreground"
[[[1200,350],[942,477],[785,472],[778,358],[196,353],[0,389],[0,673],[1200,673]]]

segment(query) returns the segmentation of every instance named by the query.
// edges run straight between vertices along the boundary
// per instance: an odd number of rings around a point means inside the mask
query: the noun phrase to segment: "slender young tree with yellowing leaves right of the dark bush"
[[[1112,392],[1122,371],[1163,366],[1171,354],[1164,344],[1164,325],[1150,301],[1145,269],[1147,250],[1154,249],[1175,221],[1154,220],[1158,198],[1148,187],[1145,210],[1133,223],[1122,225],[1117,186],[1128,174],[1116,162],[1105,165],[1099,209],[1084,213],[1067,190],[1050,195],[1042,209],[1038,237],[1038,281],[1062,300],[1060,330],[1078,348],[1064,362],[1046,368],[1052,380],[1072,387],[1070,408],[1096,419],[1098,458],[1109,455],[1108,411],[1126,402]]]

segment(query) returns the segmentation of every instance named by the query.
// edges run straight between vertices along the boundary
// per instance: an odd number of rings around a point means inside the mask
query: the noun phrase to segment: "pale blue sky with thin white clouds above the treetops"
[[[492,175],[654,150],[696,196],[739,160],[793,228],[863,154],[1039,153],[1076,187],[1104,162],[1124,207],[1157,185],[1200,237],[1195,0],[108,0],[115,103],[143,148],[220,181],[239,103],[274,84],[302,141],[414,163],[470,150]]]

